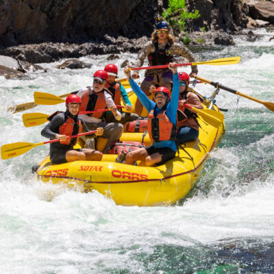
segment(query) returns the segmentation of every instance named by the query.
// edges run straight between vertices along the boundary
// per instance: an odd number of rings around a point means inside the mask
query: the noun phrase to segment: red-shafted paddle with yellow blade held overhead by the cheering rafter
[[[228,57],[228,58],[219,58],[219,59],[214,59],[210,61],[205,61],[205,62],[193,62],[193,63],[185,63],[185,64],[175,64],[175,66],[195,66],[198,64],[210,64],[214,66],[219,66],[223,64],[238,64],[240,62],[240,56],[236,57]],[[141,66],[139,68],[132,68],[130,70],[132,71],[140,71],[140,69],[166,69],[168,68],[168,64],[164,64],[161,66]]]

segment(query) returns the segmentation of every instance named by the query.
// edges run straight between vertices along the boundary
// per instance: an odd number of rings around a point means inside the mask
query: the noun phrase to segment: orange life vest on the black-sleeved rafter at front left
[[[80,134],[82,132],[81,121],[77,118],[77,121],[75,123],[75,121],[71,118],[71,116],[66,115],[65,112],[54,112],[47,119],[49,121],[51,121],[53,119],[53,117],[59,113],[64,113],[64,124],[60,125],[60,127],[59,127],[60,135],[73,136],[73,135]],[[60,143],[63,145],[74,146],[77,144],[78,140],[79,140],[79,137],[66,139],[64,142],[60,141]]]

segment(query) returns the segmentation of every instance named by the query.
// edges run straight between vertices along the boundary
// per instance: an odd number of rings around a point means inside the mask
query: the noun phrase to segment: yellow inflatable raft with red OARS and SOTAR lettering
[[[131,96],[131,101],[133,97],[134,95]],[[207,105],[205,104],[204,108],[207,108]],[[215,105],[214,110],[219,112]],[[42,182],[63,184],[82,192],[97,190],[118,205],[170,205],[182,199],[194,186],[210,151],[219,144],[225,132],[224,121],[216,128],[199,116],[199,124],[199,138],[186,143],[184,150],[179,149],[179,154],[162,166],[119,164],[115,162],[117,155],[111,154],[103,155],[99,162],[51,164],[47,156],[40,163],[36,173]],[[123,133],[120,141],[124,140],[141,142],[142,133]],[[143,142],[145,145],[151,145],[149,134]],[[77,146],[79,147],[79,144]]]

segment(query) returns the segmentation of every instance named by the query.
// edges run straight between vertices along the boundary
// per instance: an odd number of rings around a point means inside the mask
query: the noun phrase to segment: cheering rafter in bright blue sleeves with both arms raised
[[[179,77],[175,63],[169,64],[173,72],[173,92],[170,99],[170,91],[164,86],[155,90],[155,102],[151,101],[140,89],[131,77],[129,67],[125,67],[125,75],[129,79],[132,90],[149,112],[148,131],[153,145],[136,149],[127,153],[125,164],[134,164],[141,161],[142,166],[154,166],[175,158],[176,146],[176,112],[179,99]]]

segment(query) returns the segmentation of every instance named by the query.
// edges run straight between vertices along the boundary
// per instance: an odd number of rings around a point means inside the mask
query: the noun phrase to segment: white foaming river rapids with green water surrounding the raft
[[[248,42],[195,51],[199,61],[240,56],[235,65],[199,66],[199,76],[262,101],[274,102],[274,29]],[[62,95],[91,84],[107,55],[80,58],[92,69],[0,77],[0,141],[42,142],[43,125],[24,127],[10,105],[33,101],[34,91]],[[116,61],[134,60],[121,55]],[[180,69],[182,71],[183,69]],[[190,72],[189,68],[185,68]],[[120,69],[119,77],[123,77]],[[197,84],[209,96],[214,88]],[[37,182],[31,173],[48,145],[0,162],[0,273],[274,273],[274,115],[264,105],[220,90],[226,134],[197,184],[173,206],[116,204],[98,192],[80,193]],[[27,112],[51,114],[64,105]]]

